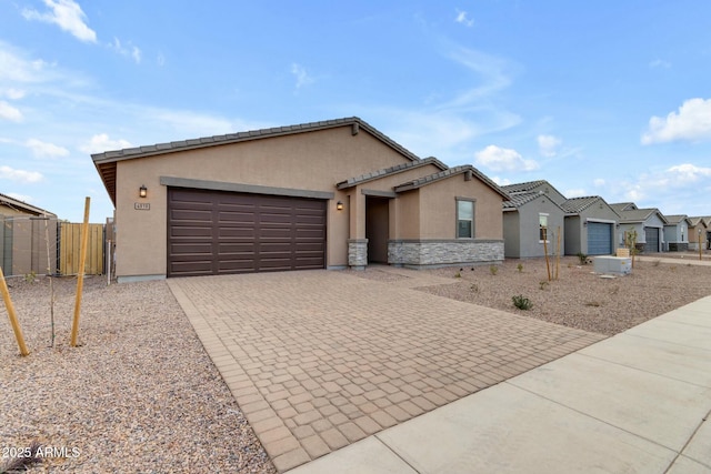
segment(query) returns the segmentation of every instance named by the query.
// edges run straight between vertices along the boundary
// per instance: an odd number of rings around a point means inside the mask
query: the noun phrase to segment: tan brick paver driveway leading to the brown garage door
[[[604,339],[368,272],[168,281],[279,471]]]

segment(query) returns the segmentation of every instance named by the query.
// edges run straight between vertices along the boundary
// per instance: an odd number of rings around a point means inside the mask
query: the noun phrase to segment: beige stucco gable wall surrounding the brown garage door
[[[327,265],[340,266],[348,263],[353,190],[338,191],[336,183],[409,161],[362,129],[352,135],[351,127],[120,161],[117,276],[166,274],[167,186],[160,184],[161,177],[333,192],[327,211]],[[148,188],[146,199],[138,196],[141,184]],[[347,205],[340,212],[339,200]],[[150,204],[150,210],[136,210],[137,202]],[[364,200],[358,212],[364,222]]]

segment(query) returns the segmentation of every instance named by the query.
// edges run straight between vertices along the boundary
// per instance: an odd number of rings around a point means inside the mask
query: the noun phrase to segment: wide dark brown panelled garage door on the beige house
[[[168,188],[168,276],[324,266],[326,201]]]

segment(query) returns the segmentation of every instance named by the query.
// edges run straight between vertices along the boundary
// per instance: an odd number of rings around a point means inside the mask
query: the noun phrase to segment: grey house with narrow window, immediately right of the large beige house
[[[505,256],[544,256],[547,250],[549,255],[558,251],[562,254],[565,249],[565,211],[557,202],[565,201],[563,195],[547,181],[501,188],[511,196],[510,201],[503,203]]]

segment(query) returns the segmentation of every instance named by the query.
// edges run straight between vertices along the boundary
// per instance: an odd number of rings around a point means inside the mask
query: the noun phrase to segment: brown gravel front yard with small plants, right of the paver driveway
[[[663,254],[664,259],[668,254]],[[613,335],[711,294],[711,266],[689,264],[693,254],[665,263],[653,256],[635,260],[632,273],[601,278],[593,264],[562,258],[558,280],[549,281],[544,259],[507,260],[490,266],[428,270],[452,284],[419,290],[555,324]],[[695,254],[698,260],[698,254]],[[519,265],[520,269],[519,269]],[[555,262],[550,261],[552,276]],[[460,270],[461,269],[461,270]],[[513,305],[527,297],[528,311]]]

